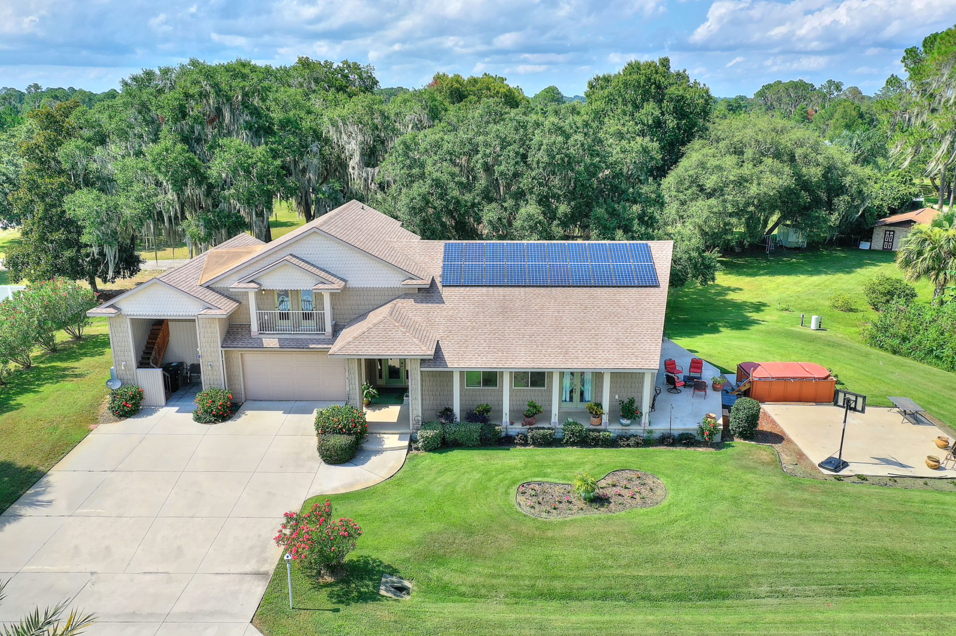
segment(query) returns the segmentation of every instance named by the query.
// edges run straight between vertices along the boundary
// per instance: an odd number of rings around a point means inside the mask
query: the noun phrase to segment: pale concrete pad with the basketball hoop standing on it
[[[836,456],[843,429],[843,409],[812,404],[764,404],[763,407],[815,464]],[[838,475],[956,477],[953,462],[937,470],[926,466],[926,456],[943,459],[946,455],[945,450],[936,448],[933,443],[937,435],[946,434],[924,419],[919,425],[903,421],[902,414],[895,409],[866,407],[866,413],[850,413],[843,442],[843,459],[850,462],[850,466]]]

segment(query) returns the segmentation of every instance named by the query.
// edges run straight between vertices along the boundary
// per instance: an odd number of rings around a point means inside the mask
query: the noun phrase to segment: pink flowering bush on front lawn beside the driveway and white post
[[[316,501],[307,513],[287,512],[275,543],[293,556],[326,572],[333,572],[356,548],[361,528],[353,519],[332,519],[332,502]]]

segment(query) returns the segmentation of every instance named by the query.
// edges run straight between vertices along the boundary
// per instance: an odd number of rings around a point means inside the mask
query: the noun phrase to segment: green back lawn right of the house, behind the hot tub
[[[728,371],[752,361],[809,361],[832,368],[867,404],[890,406],[887,395],[905,395],[947,424],[956,424],[956,374],[863,344],[860,329],[873,310],[862,286],[878,273],[901,276],[895,253],[860,249],[789,250],[785,256],[721,259],[717,283],[671,289],[666,328],[675,342]],[[920,301],[932,289],[919,283]],[[852,294],[857,311],[842,312],[827,299]],[[790,306],[792,311],[784,311]],[[800,314],[823,316],[825,330],[800,327]]]

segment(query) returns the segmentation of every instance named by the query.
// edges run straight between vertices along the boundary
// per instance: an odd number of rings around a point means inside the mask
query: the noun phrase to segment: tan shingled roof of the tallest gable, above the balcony
[[[425,279],[429,275],[422,265],[416,263],[392,244],[393,241],[420,241],[421,239],[417,234],[404,229],[401,221],[392,219],[368,205],[353,200],[339,205],[336,209],[323,214],[315,221],[296,227],[292,232],[284,234],[272,243],[267,244],[261,252],[233,265],[214,278],[206,280],[204,285],[213,283],[222,278],[228,271],[248,265],[253,259],[263,258],[310,232],[320,232],[344,244],[351,245],[385,264],[398,267],[414,278]]]

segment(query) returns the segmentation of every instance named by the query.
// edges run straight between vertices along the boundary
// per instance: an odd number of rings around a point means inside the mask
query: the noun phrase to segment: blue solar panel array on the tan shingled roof
[[[443,285],[657,286],[646,243],[446,243]]]

